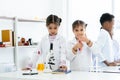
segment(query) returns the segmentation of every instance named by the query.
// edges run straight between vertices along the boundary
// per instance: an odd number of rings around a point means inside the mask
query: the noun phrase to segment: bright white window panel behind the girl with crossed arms
[[[112,13],[112,0],[70,0],[68,39],[74,36],[72,23],[79,19],[88,24],[87,35],[95,41],[101,27],[99,19],[103,13]]]

